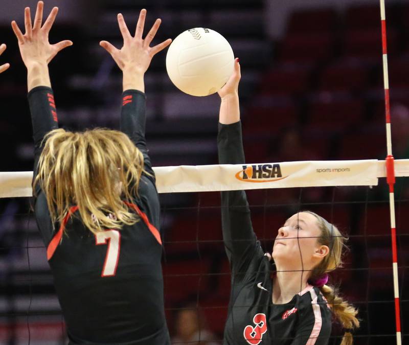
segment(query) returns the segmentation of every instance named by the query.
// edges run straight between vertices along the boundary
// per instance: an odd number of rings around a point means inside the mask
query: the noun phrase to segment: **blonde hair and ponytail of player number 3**
[[[325,273],[343,266],[342,254],[343,249],[346,247],[345,242],[348,238],[344,237],[335,225],[329,223],[323,217],[311,211],[303,212],[316,217],[321,230],[321,236],[317,241],[329,247],[329,254],[311,271],[310,281],[313,281],[322,277]],[[343,328],[347,330],[340,345],[351,345],[353,338],[349,330],[359,328],[359,320],[356,317],[358,310],[339,296],[336,287],[324,285],[320,287],[320,290],[328,301],[334,316],[338,319]]]

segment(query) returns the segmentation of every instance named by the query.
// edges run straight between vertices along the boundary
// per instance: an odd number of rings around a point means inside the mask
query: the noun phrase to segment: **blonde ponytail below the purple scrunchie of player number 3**
[[[351,331],[355,328],[359,328],[359,320],[356,317],[358,310],[349,304],[348,301],[344,301],[343,298],[338,295],[336,288],[324,285],[320,287],[320,290],[327,300],[332,313],[346,330],[340,345],[352,345],[353,339]]]

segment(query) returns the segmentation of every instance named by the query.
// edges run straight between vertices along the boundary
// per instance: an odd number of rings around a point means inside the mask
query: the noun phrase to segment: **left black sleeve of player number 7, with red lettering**
[[[28,94],[31,122],[33,125],[34,139],[34,173],[33,181],[37,176],[38,160],[43,149],[41,145],[44,136],[53,129],[58,128],[57,109],[54,102],[54,93],[50,87],[37,86]],[[36,194],[40,187],[36,186]]]

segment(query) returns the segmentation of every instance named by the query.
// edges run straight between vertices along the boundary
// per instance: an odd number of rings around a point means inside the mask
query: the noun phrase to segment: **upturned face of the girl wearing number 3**
[[[329,251],[317,240],[321,230],[316,217],[307,212],[292,215],[280,227],[271,256],[276,264],[296,270],[311,270]]]

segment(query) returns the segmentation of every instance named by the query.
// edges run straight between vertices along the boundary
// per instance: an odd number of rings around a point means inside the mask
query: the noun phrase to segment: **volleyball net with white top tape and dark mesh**
[[[183,313],[197,316],[196,340],[221,343],[230,296],[230,266],[221,235],[219,192],[223,190],[247,191],[253,227],[265,251],[271,251],[285,219],[300,210],[316,212],[337,225],[349,237],[350,250],[345,266],[330,273],[330,283],[340,285],[346,299],[359,309],[362,321],[355,343],[396,342],[390,197],[379,180],[387,176],[384,160],[157,167],[154,171],[165,233],[165,310],[174,343],[189,343],[177,336]],[[409,184],[404,178],[409,176],[409,159],[395,161],[395,176],[396,270],[404,320],[409,306],[405,292],[409,290],[405,249]],[[32,172],[0,173],[0,343],[65,343],[46,248],[33,215],[28,214],[31,179]],[[406,333],[403,324],[403,336]],[[330,343],[339,342],[341,336],[335,325]]]

